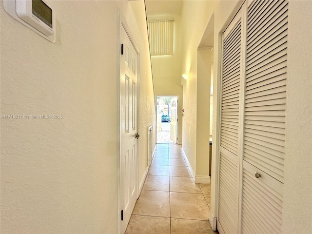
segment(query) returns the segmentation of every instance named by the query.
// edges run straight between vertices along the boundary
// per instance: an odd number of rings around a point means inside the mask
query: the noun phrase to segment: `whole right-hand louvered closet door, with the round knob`
[[[248,7],[241,233],[281,233],[287,22],[288,1]]]

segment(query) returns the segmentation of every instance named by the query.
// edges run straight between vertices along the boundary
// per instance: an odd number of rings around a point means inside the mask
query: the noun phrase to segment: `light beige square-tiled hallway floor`
[[[126,234],[216,234],[208,221],[210,184],[195,184],[181,146],[157,144]]]

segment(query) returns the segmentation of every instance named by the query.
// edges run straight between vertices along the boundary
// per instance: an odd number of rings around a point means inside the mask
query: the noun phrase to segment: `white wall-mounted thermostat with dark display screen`
[[[55,11],[45,0],[3,0],[3,7],[11,17],[55,42]]]

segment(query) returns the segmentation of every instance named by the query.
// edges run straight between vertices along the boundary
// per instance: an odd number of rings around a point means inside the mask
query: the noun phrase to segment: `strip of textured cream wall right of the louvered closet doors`
[[[282,232],[312,233],[312,1],[289,1]]]

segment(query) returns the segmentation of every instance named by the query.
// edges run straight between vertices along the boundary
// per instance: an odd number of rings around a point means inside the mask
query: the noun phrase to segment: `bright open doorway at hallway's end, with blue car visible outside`
[[[177,142],[177,103],[175,96],[157,96],[157,144]]]

